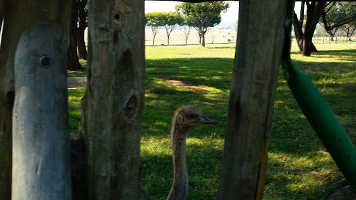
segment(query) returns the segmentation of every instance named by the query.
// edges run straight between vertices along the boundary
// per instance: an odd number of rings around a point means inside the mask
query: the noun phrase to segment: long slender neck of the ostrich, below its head
[[[186,172],[186,132],[178,124],[172,124],[172,156],[174,178],[167,200],[185,200],[188,194],[188,173]]]

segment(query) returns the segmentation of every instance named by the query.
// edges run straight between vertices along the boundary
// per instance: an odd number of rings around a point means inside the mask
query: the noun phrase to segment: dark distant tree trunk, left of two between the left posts
[[[77,34],[76,26],[78,22],[78,10],[76,6],[76,0],[72,0],[72,15],[70,18],[70,48],[67,51],[67,69],[79,70],[83,69],[79,63],[78,51],[76,50]]]

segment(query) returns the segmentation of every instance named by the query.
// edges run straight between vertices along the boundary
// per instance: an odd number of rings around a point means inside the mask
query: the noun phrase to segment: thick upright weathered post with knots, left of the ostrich
[[[144,1],[89,1],[82,100],[89,199],[140,199],[145,88]]]

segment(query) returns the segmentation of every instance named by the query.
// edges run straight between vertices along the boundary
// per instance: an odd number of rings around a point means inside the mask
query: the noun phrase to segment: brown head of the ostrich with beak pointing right
[[[182,131],[202,124],[218,124],[217,121],[202,115],[202,112],[193,106],[181,106],[173,115],[172,125],[178,126]]]

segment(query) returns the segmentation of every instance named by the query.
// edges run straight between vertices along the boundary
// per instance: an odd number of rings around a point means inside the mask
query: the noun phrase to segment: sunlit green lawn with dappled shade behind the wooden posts
[[[316,84],[355,143],[356,44],[318,44],[316,48],[319,52],[306,58],[293,46],[292,59]],[[196,106],[207,117],[219,121],[216,126],[193,129],[187,139],[188,199],[215,199],[234,50],[234,44],[146,48],[141,163],[147,199],[168,197],[173,178],[170,122],[181,105]],[[163,77],[204,90],[177,88]],[[80,99],[84,93],[84,89],[69,90],[71,137],[80,128]],[[280,72],[264,199],[325,199],[337,189],[332,181],[341,178]]]

